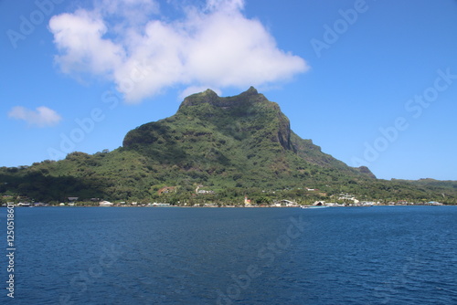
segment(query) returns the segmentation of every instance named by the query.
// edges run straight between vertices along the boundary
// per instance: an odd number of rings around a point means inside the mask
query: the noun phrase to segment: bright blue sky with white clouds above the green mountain
[[[457,1],[0,1],[0,166],[122,145],[255,86],[378,178],[457,180]]]

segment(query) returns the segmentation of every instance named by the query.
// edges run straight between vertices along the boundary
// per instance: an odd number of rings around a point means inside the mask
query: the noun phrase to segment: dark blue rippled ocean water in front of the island
[[[1,304],[457,304],[457,206],[5,212]]]

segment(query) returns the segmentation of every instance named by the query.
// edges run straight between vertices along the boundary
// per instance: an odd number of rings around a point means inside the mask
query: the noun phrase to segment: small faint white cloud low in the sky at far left
[[[37,110],[29,110],[22,106],[16,106],[8,112],[10,118],[27,121],[29,125],[48,127],[57,125],[62,118],[55,110],[48,107],[37,107]]]

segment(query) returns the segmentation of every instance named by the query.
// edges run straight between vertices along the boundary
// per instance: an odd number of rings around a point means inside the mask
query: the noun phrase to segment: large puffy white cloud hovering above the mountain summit
[[[186,17],[174,21],[157,16],[154,1],[94,1],[93,10],[49,21],[56,62],[70,75],[111,79],[128,102],[176,85],[266,86],[308,69],[303,58],[282,51],[259,20],[242,14],[243,0],[187,6]]]

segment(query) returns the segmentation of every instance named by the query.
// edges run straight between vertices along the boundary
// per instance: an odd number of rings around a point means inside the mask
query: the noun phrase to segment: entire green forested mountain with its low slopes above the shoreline
[[[129,131],[110,153],[4,167],[0,183],[0,194],[43,201],[165,196],[177,202],[197,200],[197,188],[207,191],[205,200],[233,202],[245,194],[258,202],[340,193],[372,200],[457,198],[455,183],[384,181],[367,167],[347,166],[295,134],[278,104],[252,87],[227,98],[210,89],[191,95],[175,115]]]

